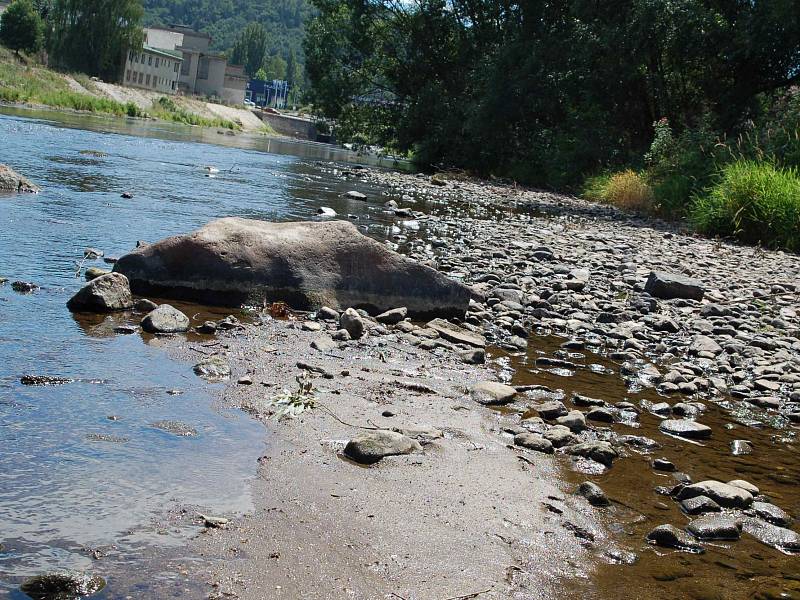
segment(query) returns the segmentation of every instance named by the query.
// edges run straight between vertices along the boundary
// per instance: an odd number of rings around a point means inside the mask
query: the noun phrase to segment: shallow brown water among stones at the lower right
[[[585,590],[586,597],[800,598],[800,556],[784,554],[746,533],[736,542],[705,543],[704,554],[656,548],[645,540],[648,532],[658,525],[683,528],[691,520],[677,502],[655,492],[657,486],[671,486],[677,481],[672,473],[655,471],[651,467],[654,458],[667,458],[695,482],[744,479],[758,486],[762,494],[790,515],[800,515],[798,428],[775,419],[772,419],[774,427],[746,426],[743,422],[748,420],[771,419],[746,403],[719,398],[717,402],[705,401],[707,410],[697,417],[712,428],[710,440],[697,443],[671,437],[658,429],[662,417],[651,414],[640,403],[666,400],[674,404],[687,398],[665,398],[653,388],[628,388],[619,375],[619,364],[588,350],[573,351],[568,357],[580,366],[575,370],[564,372],[535,366],[536,358],[560,355],[560,345],[565,341],[553,336],[532,337],[527,353],[501,355],[500,363],[509,375],[513,369],[514,384],[547,386],[556,391],[552,397],[563,399],[568,409],[573,408],[569,401],[573,392],[611,404],[621,401],[636,404],[640,407],[638,426],[591,421],[589,424],[598,429],[611,428],[619,435],[646,436],[661,446],[649,452],[628,447],[624,457],[614,461],[611,469],[595,475],[577,472],[567,457],[559,459],[565,479],[573,489],[587,480],[603,488],[612,505],[596,509],[601,522],[611,530],[618,545],[638,555],[632,565],[598,561],[600,566]],[[733,456],[730,443],[737,439],[750,441],[753,453]],[[791,528],[797,530],[796,523]]]

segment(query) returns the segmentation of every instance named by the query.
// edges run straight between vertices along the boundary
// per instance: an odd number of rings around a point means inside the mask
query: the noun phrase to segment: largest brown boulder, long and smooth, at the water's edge
[[[270,223],[240,218],[139,248],[117,261],[137,293],[239,305],[283,300],[415,316],[466,312],[468,287],[363,234],[345,221]]]

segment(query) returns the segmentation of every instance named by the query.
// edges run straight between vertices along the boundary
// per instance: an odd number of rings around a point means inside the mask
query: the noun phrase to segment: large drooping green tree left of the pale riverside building
[[[62,67],[115,81],[142,47],[141,0],[55,0],[51,15],[50,54]]]

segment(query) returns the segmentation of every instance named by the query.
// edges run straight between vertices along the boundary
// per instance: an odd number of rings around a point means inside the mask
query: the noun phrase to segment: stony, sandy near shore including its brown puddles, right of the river
[[[742,539],[701,542],[704,554],[645,539],[697,519],[675,497],[703,480],[746,479],[760,506],[800,514],[797,256],[575,198],[359,173],[341,177],[386,188],[368,201],[402,198],[400,249],[485,295],[463,324],[493,344],[488,371],[424,326],[375,326],[364,341],[326,340],[319,351],[310,344],[321,333],[271,321],[223,334],[221,346],[184,347],[184,357],[223,355],[233,381],[253,381],[222,397],[264,420],[271,440],[258,510],[200,536],[194,548],[212,566],[197,577],[218,597],[242,598],[547,598],[555,589],[610,598],[622,582],[641,590],[631,598],[797,593],[790,521],[723,508]],[[415,211],[422,205],[428,214]],[[696,278],[703,300],[645,293],[653,271]],[[330,412],[267,420],[265,399],[292,388],[297,361],[314,367]],[[501,411],[482,407],[468,390],[484,378],[520,393]],[[339,457],[360,432],[353,425],[417,429],[430,443],[365,469]],[[426,439],[429,427],[443,437]],[[556,458],[526,445],[555,448]],[[779,465],[780,477],[762,464]],[[572,495],[586,481],[610,506]],[[753,553],[769,567],[756,568]]]

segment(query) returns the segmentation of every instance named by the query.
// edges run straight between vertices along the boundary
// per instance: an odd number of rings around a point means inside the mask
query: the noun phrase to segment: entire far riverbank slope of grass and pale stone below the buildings
[[[245,108],[184,96],[165,96],[64,74],[32,59],[20,59],[0,47],[0,101],[8,105],[46,106],[117,117],[153,118],[171,123],[246,133],[274,133]]]

